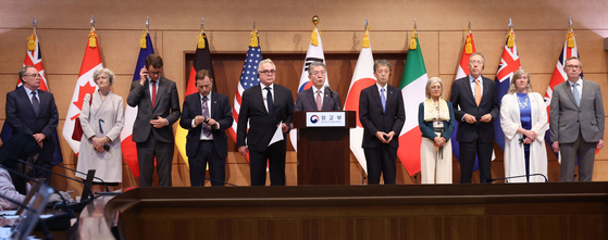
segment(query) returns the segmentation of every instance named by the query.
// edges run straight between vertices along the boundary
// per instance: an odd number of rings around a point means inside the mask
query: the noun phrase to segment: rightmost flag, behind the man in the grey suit
[[[568,41],[570,40],[570,45]],[[563,65],[566,64],[566,60],[570,56],[579,58],[579,50],[576,48],[576,39],[574,39],[574,31],[572,28],[568,29],[568,35],[566,36],[566,42],[563,42],[563,48],[559,53],[559,59],[557,60],[557,64],[554,70],[554,74],[551,76],[551,80],[549,81],[549,86],[547,86],[547,92],[545,92],[545,105],[547,105],[547,116],[549,115],[549,108],[551,104],[551,96],[554,93],[554,87],[566,81],[568,77],[566,76],[566,72],[563,72]],[[583,72],[581,71],[581,77],[583,77]],[[551,135],[549,129],[545,134],[545,142],[547,144],[551,144]],[[555,152],[554,152],[555,153]],[[596,151],[597,153],[597,151]],[[555,153],[556,156],[559,159],[558,153]]]

